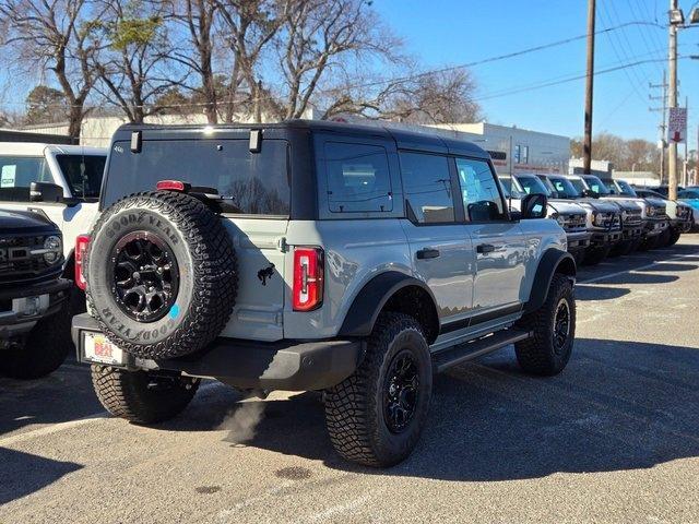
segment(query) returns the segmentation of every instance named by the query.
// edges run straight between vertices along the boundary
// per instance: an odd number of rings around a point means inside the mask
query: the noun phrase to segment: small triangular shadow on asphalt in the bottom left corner
[[[54,484],[64,475],[83,466],[72,462],[54,461],[21,451],[0,448],[0,507]],[[4,475],[2,472],[23,472]]]

